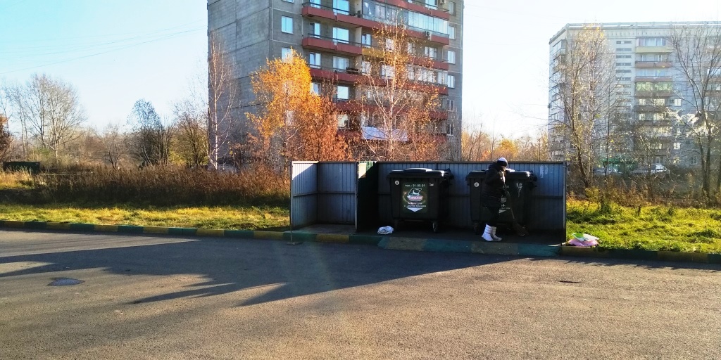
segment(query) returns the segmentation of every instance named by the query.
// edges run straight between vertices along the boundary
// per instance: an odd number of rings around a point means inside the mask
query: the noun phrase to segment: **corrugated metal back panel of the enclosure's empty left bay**
[[[318,222],[355,224],[358,163],[318,165]]]

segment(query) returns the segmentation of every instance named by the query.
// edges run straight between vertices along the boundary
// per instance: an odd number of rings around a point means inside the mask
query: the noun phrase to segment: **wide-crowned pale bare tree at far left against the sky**
[[[23,133],[29,132],[37,146],[52,151],[54,161],[63,146],[82,133],[79,129],[86,118],[70,84],[35,74],[25,86],[11,89],[10,99]]]

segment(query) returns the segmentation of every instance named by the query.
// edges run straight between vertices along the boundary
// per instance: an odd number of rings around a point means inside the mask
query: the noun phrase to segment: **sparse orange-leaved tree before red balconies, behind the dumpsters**
[[[438,93],[446,75],[433,69],[435,54],[421,54],[425,48],[399,24],[385,24],[373,38],[379,40],[364,51],[351,101],[361,109],[357,152],[375,161],[438,159],[447,126],[438,119]]]

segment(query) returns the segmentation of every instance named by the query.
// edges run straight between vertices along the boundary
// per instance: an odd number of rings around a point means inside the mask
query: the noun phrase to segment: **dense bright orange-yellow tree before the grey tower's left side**
[[[297,53],[268,60],[252,87],[259,110],[247,114],[253,126],[248,145],[257,161],[282,170],[293,160],[348,158],[332,104],[311,92],[310,69]]]

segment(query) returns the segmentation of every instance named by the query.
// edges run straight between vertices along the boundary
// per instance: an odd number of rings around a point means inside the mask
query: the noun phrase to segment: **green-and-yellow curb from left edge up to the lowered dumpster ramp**
[[[323,233],[299,233],[297,231],[222,230],[201,228],[164,228],[159,226],[81,224],[76,222],[44,222],[0,220],[0,228],[32,230],[73,230],[79,232],[131,233],[155,235],[191,235],[215,238],[240,238],[259,240],[293,240],[318,243],[350,243],[376,246],[380,236],[343,235]]]

